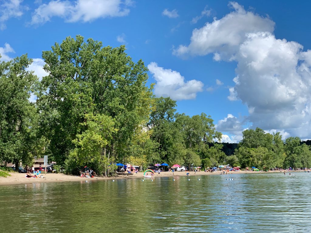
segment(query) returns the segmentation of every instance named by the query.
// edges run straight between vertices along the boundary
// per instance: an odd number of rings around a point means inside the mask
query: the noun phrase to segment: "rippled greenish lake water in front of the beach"
[[[0,232],[262,233],[311,229],[311,173],[189,178],[0,186]]]

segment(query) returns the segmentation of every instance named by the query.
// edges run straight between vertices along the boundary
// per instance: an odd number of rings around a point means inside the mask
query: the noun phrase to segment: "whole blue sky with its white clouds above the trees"
[[[67,36],[125,44],[148,66],[157,96],[176,99],[178,112],[211,115],[223,141],[257,126],[309,139],[310,5],[0,0],[0,53],[2,60],[28,53],[42,76],[42,51]]]

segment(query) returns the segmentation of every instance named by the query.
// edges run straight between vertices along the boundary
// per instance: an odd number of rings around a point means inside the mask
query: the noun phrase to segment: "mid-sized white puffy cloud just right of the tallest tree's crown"
[[[197,92],[203,90],[204,84],[198,80],[185,81],[185,78],[177,71],[164,69],[156,62],[148,65],[149,71],[157,81],[153,93],[156,96],[170,96],[174,100],[194,99]]]

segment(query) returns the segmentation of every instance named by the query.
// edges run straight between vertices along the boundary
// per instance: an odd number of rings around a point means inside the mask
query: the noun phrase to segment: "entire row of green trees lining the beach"
[[[49,75],[40,81],[27,71],[27,55],[0,63],[0,162],[18,167],[48,155],[66,173],[88,166],[103,175],[116,162],[311,167],[309,140],[283,142],[257,128],[239,144],[219,143],[211,116],[178,113],[176,101],[153,95],[144,62],[133,62],[125,46],[68,37],[42,58]]]

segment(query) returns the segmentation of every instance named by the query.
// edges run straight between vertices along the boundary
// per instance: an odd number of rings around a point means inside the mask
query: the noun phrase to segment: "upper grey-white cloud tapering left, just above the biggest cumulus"
[[[272,32],[274,22],[268,18],[245,11],[235,2],[230,2],[234,11],[223,18],[206,23],[200,29],[194,29],[188,46],[179,45],[174,50],[177,56],[219,53],[221,57],[230,59],[245,40],[247,33],[261,31]]]

